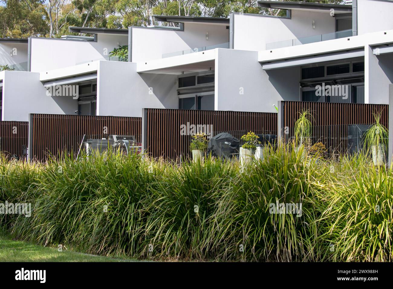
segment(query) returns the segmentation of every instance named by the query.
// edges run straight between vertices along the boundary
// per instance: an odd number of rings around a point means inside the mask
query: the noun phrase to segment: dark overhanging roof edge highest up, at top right
[[[258,1],[258,6],[262,8],[273,9],[317,9],[330,10],[342,12],[352,12],[352,5],[345,4],[324,4],[313,2],[289,2],[289,1]]]

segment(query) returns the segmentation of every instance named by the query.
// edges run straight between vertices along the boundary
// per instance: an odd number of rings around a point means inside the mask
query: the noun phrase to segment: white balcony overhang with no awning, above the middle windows
[[[220,48],[216,48],[220,49]],[[136,71],[155,74],[182,74],[213,70],[215,67],[215,49],[184,55],[138,62]]]

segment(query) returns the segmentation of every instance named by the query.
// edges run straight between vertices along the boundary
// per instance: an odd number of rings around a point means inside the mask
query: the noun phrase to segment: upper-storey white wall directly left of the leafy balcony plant
[[[66,39],[31,39],[31,71],[42,72],[109,57],[128,35],[98,34],[97,42]]]

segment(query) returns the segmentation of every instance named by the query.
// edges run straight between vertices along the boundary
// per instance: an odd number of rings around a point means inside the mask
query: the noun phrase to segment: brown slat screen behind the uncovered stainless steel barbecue
[[[110,134],[133,135],[141,142],[142,118],[125,116],[79,116],[61,114],[31,114],[29,156],[45,161],[48,154],[59,151],[75,156],[83,135],[108,138]]]

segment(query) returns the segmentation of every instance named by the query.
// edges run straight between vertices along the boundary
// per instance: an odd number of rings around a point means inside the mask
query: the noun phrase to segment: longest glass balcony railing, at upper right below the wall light
[[[298,39],[290,39],[290,40],[266,43],[266,50],[307,44],[307,43],[314,43],[314,42],[320,42],[320,41],[332,40],[338,38],[345,38],[350,36],[352,36],[352,29],[337,31],[327,34],[313,35],[313,36],[303,37]]]

